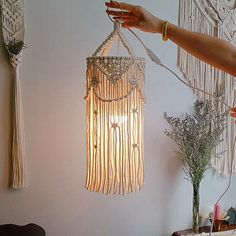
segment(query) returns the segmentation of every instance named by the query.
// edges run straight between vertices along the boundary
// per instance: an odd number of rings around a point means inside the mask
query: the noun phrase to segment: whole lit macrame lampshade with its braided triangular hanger
[[[115,40],[128,56],[108,56]],[[123,195],[143,185],[144,68],[144,59],[135,57],[118,22],[87,58],[86,188],[90,191]]]

